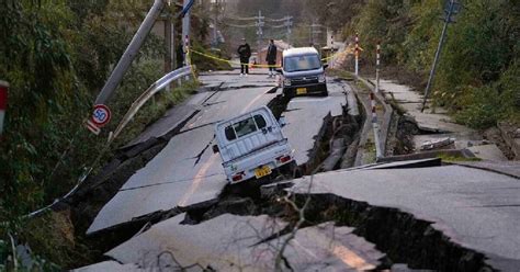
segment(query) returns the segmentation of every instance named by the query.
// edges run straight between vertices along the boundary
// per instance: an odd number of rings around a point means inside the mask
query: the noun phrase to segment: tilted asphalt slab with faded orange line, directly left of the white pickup
[[[173,137],[161,152],[132,175],[105,204],[87,234],[158,211],[216,199],[227,184],[219,156],[206,149],[199,163],[199,158],[195,158],[212,139],[212,127],[202,127]],[[191,148],[185,148],[186,146]]]

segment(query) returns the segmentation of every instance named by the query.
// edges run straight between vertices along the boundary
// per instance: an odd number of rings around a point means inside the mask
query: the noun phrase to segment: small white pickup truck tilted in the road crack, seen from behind
[[[293,171],[296,162],[287,138],[271,110],[262,106],[215,125],[217,145],[227,180],[233,183],[270,175],[274,170]]]

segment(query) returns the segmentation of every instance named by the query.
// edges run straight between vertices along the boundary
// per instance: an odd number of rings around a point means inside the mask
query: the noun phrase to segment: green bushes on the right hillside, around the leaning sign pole
[[[444,2],[369,0],[347,25],[359,31],[365,52],[373,59],[376,41],[383,43],[383,59],[423,75],[433,61],[443,22]],[[456,23],[450,24],[433,84],[437,104],[456,120],[485,128],[518,116],[509,99],[518,97],[520,61],[520,5],[510,0],[466,0]]]

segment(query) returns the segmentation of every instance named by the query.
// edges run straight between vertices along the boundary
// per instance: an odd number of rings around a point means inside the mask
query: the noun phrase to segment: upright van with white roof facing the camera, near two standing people
[[[283,94],[287,97],[318,94],[328,95],[325,69],[318,50],[314,47],[291,48],[283,52]]]

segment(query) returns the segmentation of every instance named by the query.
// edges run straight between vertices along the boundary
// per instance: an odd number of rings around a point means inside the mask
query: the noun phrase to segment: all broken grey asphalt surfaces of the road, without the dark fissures
[[[217,201],[227,182],[219,156],[208,148],[214,140],[213,124],[265,105],[280,92],[273,91],[274,82],[269,84],[264,75],[238,78],[215,73],[202,76],[201,79],[208,86],[230,88],[192,97],[170,110],[133,141],[143,143],[149,137],[161,137],[173,127],[177,129],[168,145],[146,167],[134,173],[102,208],[89,234],[157,212]],[[324,117],[337,116],[344,110],[348,101],[346,92],[350,91],[344,88],[339,82],[331,82],[330,97],[296,98],[287,104],[283,113],[289,122],[284,133],[295,148],[298,163],[308,160]],[[511,163],[507,171],[502,166],[483,163],[472,168],[417,168],[411,165],[414,162],[410,161],[395,162],[320,173],[315,175],[309,193],[368,203],[369,209],[388,207],[398,211],[399,215],[411,214],[415,219],[431,223],[431,227],[445,235],[455,247],[460,245],[482,252],[487,264],[515,271],[519,264],[519,202],[515,191],[518,189],[518,175],[515,175],[518,163]],[[388,169],[392,166],[405,169]],[[309,181],[308,177],[295,180],[296,186],[287,191],[306,193]],[[84,271],[106,268],[145,271],[161,265],[172,268],[179,262],[182,265],[199,263],[224,271],[241,268],[272,270],[275,258],[272,249],[280,247],[280,238],[286,237],[275,235],[286,223],[265,215],[223,214],[195,225],[183,223],[184,216],[178,212],[172,218],[151,225],[105,253],[117,262],[93,264]],[[244,222],[247,224],[239,227]],[[276,224],[263,229],[270,226],[268,222]],[[335,227],[332,223],[302,228],[295,233],[284,259],[297,271],[359,271],[375,269],[385,262],[385,253],[380,252],[372,240],[368,241],[352,231],[349,227]],[[263,239],[274,236],[278,239]],[[177,260],[166,258],[163,252],[170,252],[171,257],[174,254]],[[478,259],[473,253],[466,257]],[[195,268],[193,271],[202,270]]]

